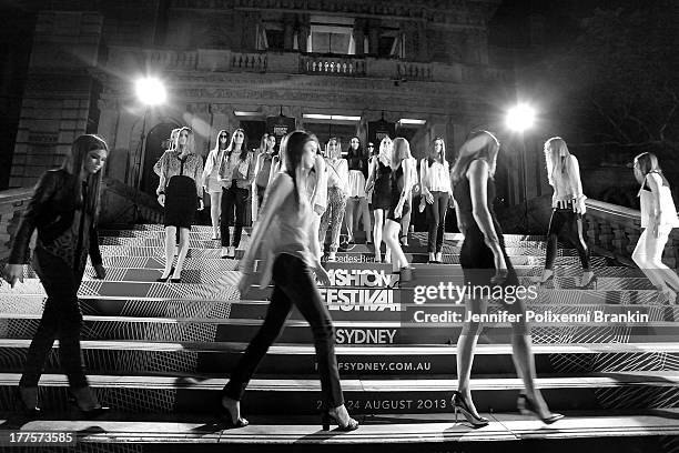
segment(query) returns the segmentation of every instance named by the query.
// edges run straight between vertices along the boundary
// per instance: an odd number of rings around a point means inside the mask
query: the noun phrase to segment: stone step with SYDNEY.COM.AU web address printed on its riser
[[[19,373],[26,362],[30,340],[0,339],[0,366]],[[230,373],[247,344],[235,342],[82,342],[83,359],[91,374],[219,375]],[[49,355],[44,372],[60,373],[58,343]],[[437,346],[337,346],[337,365],[342,376],[420,376],[455,375],[453,345]],[[676,343],[557,343],[536,344],[538,375],[625,372],[679,371],[679,346]],[[306,375],[317,372],[315,350],[308,344],[273,345],[257,375]],[[483,375],[514,376],[509,344],[479,344],[472,370],[474,379]]]

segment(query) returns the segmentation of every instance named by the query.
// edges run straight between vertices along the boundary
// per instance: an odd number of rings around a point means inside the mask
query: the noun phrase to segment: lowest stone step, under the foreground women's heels
[[[338,452],[373,453],[381,447],[393,453],[462,452],[485,453],[549,451],[553,453],[670,452],[679,433],[677,410],[653,411],[578,411],[555,429],[515,412],[485,414],[490,424],[474,430],[466,422],[455,423],[449,414],[384,414],[359,416],[361,429],[351,433],[320,431],[315,416],[271,417],[250,415],[251,425],[225,430],[206,425],[205,419],[180,414],[172,419],[162,414],[149,416],[119,413],[97,422],[58,419],[32,421],[26,431],[68,431],[75,434],[69,451],[158,451],[204,452]],[[527,450],[527,449],[530,450]],[[445,449],[445,450],[442,450]],[[539,450],[538,450],[539,449]]]

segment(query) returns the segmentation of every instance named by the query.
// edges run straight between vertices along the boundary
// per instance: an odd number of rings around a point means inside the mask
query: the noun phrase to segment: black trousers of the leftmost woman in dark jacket
[[[41,249],[36,249],[33,269],[40,276],[48,299],[42,319],[29,348],[23,374],[19,385],[38,386],[44,361],[59,339],[59,358],[71,389],[88,386],[84,374],[80,329],[82,312],[78,303],[78,289],[82,282],[82,271],[74,271],[63,260]]]

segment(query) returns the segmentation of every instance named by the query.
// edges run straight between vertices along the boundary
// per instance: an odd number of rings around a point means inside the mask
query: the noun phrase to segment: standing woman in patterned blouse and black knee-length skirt
[[[196,209],[203,209],[203,158],[194,154],[193,131],[181,128],[175,147],[165,151],[155,164],[160,174],[158,202],[165,208],[165,269],[159,282],[182,281],[182,269],[189,252],[189,232]],[[176,266],[172,268],[179,229]],[[172,276],[170,276],[172,274]]]

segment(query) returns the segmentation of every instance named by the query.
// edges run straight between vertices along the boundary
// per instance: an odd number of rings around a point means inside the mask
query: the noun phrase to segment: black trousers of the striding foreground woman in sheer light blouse
[[[311,270],[300,258],[282,253],[274,262],[273,279],[275,286],[264,323],[231,373],[231,380],[224,386],[223,393],[232,400],[242,399],[247,382],[268,348],[281,334],[294,304],[311,325],[314,335],[325,407],[344,404],[335,358],[333,321],[316,289]]]

